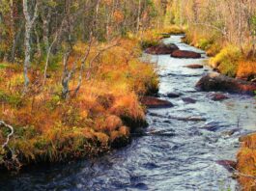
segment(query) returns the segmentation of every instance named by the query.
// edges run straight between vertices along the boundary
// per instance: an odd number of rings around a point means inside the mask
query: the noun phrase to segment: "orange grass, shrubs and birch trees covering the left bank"
[[[155,93],[141,41],[156,41],[160,1],[0,4],[0,166],[91,156],[126,145]],[[145,40],[141,39],[144,37]]]

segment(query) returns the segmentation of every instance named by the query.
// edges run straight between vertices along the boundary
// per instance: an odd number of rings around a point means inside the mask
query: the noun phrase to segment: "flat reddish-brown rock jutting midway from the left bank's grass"
[[[174,106],[170,101],[162,100],[154,96],[143,96],[140,101],[148,108],[167,108]]]

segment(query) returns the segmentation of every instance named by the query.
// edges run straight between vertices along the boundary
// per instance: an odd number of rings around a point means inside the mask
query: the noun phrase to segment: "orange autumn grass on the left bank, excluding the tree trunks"
[[[90,58],[97,48],[107,45],[95,44]],[[69,68],[86,47],[75,45]],[[27,94],[23,92],[22,66],[0,64],[4,66],[0,67],[0,119],[14,126],[8,148],[0,149],[0,166],[14,170],[30,163],[96,156],[127,145],[130,132],[146,124],[139,97],[156,92],[158,85],[154,65],[142,63],[140,55],[138,40],[119,40],[119,45],[102,52],[85,71],[90,76],[74,95],[77,69],[67,100],[61,96],[61,62],[49,66],[45,86],[43,68],[33,66]],[[8,133],[9,129],[1,126],[0,145]]]

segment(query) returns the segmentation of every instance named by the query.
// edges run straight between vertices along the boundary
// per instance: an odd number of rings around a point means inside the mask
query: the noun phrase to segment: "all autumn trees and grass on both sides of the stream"
[[[255,0],[0,0],[0,168],[126,145],[157,91],[142,50],[183,29],[213,68],[255,80]],[[239,154],[249,176],[254,140]]]

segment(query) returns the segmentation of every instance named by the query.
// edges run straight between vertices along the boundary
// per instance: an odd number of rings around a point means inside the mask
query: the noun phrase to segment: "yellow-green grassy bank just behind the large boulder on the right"
[[[243,80],[256,78],[256,60],[250,50],[225,42],[219,33],[207,33],[200,29],[188,29],[184,41],[205,50],[210,59],[209,65],[224,75]]]

